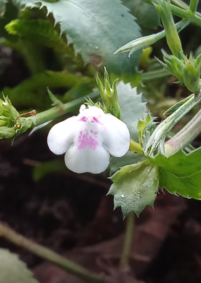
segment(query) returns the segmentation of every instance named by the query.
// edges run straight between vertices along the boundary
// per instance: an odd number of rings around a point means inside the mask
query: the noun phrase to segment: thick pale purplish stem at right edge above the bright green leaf
[[[165,142],[165,155],[170,156],[190,144],[201,132],[201,109],[170,140]]]

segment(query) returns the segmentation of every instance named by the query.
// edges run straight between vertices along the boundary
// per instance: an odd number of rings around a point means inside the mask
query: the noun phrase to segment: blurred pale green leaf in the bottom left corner
[[[38,283],[18,255],[0,249],[0,283]]]

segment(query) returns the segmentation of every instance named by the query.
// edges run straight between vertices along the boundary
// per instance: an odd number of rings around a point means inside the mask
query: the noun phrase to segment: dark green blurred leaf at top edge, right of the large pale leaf
[[[137,18],[137,23],[150,29],[157,29],[160,24],[160,16],[153,5],[141,0],[123,0],[133,16]]]

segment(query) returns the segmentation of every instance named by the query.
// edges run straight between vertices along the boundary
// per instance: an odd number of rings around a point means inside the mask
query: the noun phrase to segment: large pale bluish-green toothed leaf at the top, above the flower
[[[140,52],[136,52],[131,59],[126,54],[117,54],[115,59],[113,56],[120,46],[140,37],[135,18],[119,0],[13,2],[31,8],[45,6],[47,14],[52,13],[61,25],[61,32],[66,33],[68,44],[73,43],[75,53],[80,53],[85,63],[93,63],[99,58],[100,64],[105,65],[109,73],[120,75],[135,72]]]

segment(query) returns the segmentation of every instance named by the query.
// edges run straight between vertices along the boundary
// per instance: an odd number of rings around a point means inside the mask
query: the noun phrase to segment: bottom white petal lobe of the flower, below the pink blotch
[[[75,173],[90,172],[99,174],[105,171],[109,165],[110,154],[103,146],[95,150],[90,147],[78,149],[72,144],[65,154],[65,164]]]

